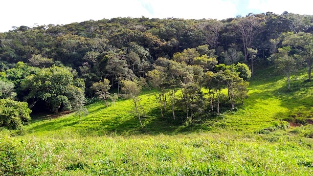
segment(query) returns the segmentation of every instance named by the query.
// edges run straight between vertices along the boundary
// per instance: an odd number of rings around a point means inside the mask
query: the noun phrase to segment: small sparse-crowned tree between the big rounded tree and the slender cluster
[[[112,85],[109,85],[110,81],[106,78],[103,79],[103,81],[99,81],[97,83],[93,83],[91,86],[91,89],[96,91],[96,95],[99,96],[99,98],[102,98],[107,107],[109,106],[107,103],[107,99],[110,98],[109,89]]]

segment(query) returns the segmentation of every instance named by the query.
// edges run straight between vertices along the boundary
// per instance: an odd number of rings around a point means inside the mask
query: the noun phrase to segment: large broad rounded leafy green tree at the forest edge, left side
[[[43,68],[22,81],[22,88],[28,94],[24,97],[33,107],[38,100],[46,102],[48,108],[58,113],[59,110],[72,110],[83,106],[85,102],[84,85],[76,84],[75,71],[68,67],[52,66]],[[75,86],[76,84],[76,86]]]

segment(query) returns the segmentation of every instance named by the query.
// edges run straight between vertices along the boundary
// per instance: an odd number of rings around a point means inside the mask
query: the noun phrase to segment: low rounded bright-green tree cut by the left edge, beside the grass
[[[0,127],[19,130],[30,121],[31,110],[25,102],[0,99]]]

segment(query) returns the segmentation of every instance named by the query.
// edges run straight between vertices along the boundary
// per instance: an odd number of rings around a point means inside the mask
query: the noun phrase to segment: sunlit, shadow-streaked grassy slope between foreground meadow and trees
[[[89,115],[79,118],[70,113],[61,117],[45,116],[33,120],[25,127],[25,132],[40,135],[51,132],[74,131],[83,136],[118,134],[176,134],[181,132],[255,132],[285,120],[298,124],[310,123],[313,119],[313,86],[305,82],[306,74],[291,78],[291,91],[287,91],[287,81],[267,70],[259,70],[250,81],[248,98],[244,106],[235,112],[225,112],[218,118],[208,118],[204,122],[188,125],[172,120],[171,111],[160,117],[158,102],[151,91],[140,96],[147,114],[143,118],[144,129],[140,129],[138,119],[129,100],[120,99],[108,108],[101,101],[87,106]],[[180,114],[184,116],[184,114]]]

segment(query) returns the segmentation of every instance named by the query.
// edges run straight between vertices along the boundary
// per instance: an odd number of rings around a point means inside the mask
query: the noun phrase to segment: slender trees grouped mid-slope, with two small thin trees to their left
[[[234,110],[236,101],[243,103],[247,93],[247,80],[251,77],[248,66],[241,63],[217,65],[217,59],[209,57],[209,54],[207,46],[188,48],[174,54],[172,59],[158,58],[154,69],[148,71],[144,78],[121,80],[123,95],[132,100],[141,126],[140,116],[145,112],[138,96],[143,87],[155,90],[161,117],[170,104],[174,120],[175,110],[179,110],[186,114],[183,119],[188,119],[191,123],[195,116],[220,113],[220,97],[225,88],[228,90],[228,98],[224,104],[229,103],[231,110]],[[112,97],[117,96],[109,93],[111,86],[110,81],[104,79],[91,87],[107,106],[107,99],[114,102]]]

